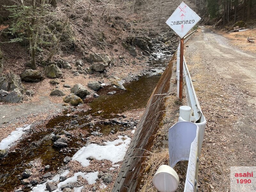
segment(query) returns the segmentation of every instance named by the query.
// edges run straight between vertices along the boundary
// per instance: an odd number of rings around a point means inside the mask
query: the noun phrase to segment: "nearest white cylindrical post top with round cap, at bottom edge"
[[[161,165],[153,178],[153,185],[159,192],[174,192],[179,182],[178,174],[168,165]]]

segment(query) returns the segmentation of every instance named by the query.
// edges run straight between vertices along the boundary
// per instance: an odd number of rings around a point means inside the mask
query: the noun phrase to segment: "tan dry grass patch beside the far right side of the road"
[[[230,39],[231,43],[234,44],[237,48],[242,49],[246,52],[256,53],[256,44],[248,43],[247,38],[252,37],[256,39],[256,29],[249,29],[242,32],[233,32],[233,33],[224,33],[221,34]]]

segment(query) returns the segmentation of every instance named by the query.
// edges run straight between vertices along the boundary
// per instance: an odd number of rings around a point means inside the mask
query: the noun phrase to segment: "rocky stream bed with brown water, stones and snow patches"
[[[140,67],[127,63],[130,72],[124,71],[122,66],[120,74],[126,74],[122,78],[121,75],[116,76],[116,73],[108,74],[108,78],[105,78],[106,68],[103,66],[102,72],[91,75],[86,68],[87,78],[81,78],[81,75],[77,78],[73,72],[73,75],[65,75],[65,78],[62,76],[58,79],[44,79],[44,83],[49,83],[46,87],[55,87],[50,94],[59,95],[50,97],[50,103],[53,104],[51,109],[54,110],[54,106],[58,106],[55,107],[56,112],[64,110],[58,116],[32,121],[29,118],[22,119],[24,116],[31,117],[31,113],[20,115],[19,111],[15,113],[14,110],[13,116],[10,117],[8,107],[29,105],[38,100],[39,97],[32,96],[31,92],[28,100],[22,100],[20,105],[2,105],[4,108],[1,107],[1,110],[7,114],[1,119],[3,128],[10,128],[2,139],[7,138],[17,125],[23,127],[23,134],[16,145],[8,146],[4,149],[5,152],[2,150],[2,157],[5,157],[0,160],[0,191],[44,191],[46,188],[49,191],[76,192],[110,190],[143,108],[174,51],[173,45],[168,46],[158,41],[159,39],[156,39],[154,47],[151,47],[155,52],[145,51],[149,57],[147,63]],[[74,63],[76,70],[81,70],[78,68],[82,68],[82,64],[77,62]],[[134,71],[135,68],[137,70]],[[97,71],[95,69],[96,67],[93,70]],[[113,69],[114,67],[110,68],[112,71]],[[70,69],[62,69],[65,70]],[[100,74],[103,77],[98,76]],[[77,83],[77,80],[82,83]],[[83,86],[84,82],[88,82],[89,89]],[[42,81],[37,83],[39,86],[40,84],[43,85]],[[32,86],[34,83],[25,83],[25,87]],[[46,87],[39,89],[39,92],[43,93],[41,97],[49,94],[45,90]],[[61,97],[64,102],[70,104],[63,104],[59,99]],[[72,99],[74,101],[71,101]],[[72,102],[77,100],[79,102],[73,105]],[[32,117],[39,114],[41,111],[35,111]],[[18,119],[13,119],[15,116]],[[28,126],[26,124],[30,123],[29,129],[25,129]]]

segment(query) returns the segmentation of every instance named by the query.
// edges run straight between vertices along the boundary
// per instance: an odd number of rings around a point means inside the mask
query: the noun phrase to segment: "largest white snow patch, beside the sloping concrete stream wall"
[[[115,164],[124,159],[130,142],[131,138],[128,136],[118,136],[117,140],[104,142],[106,144],[104,146],[92,143],[78,150],[72,157],[72,160],[80,162],[84,167],[90,165],[90,160],[86,159],[89,156],[94,157],[98,161],[105,159]]]

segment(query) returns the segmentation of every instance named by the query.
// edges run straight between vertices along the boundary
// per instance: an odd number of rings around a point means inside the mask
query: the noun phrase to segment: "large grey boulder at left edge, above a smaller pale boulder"
[[[5,91],[13,91],[14,89],[19,89],[22,93],[25,92],[25,88],[21,83],[20,76],[16,74],[0,76],[0,89]]]

